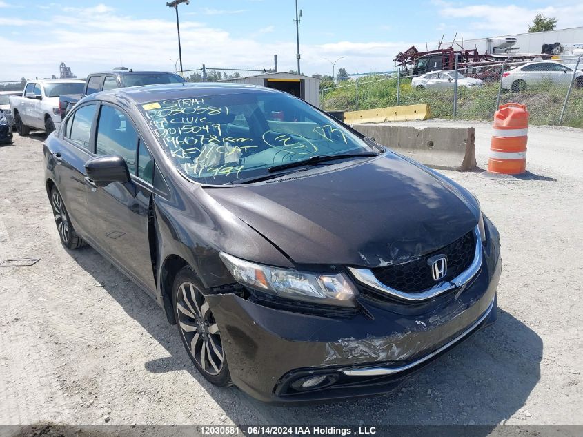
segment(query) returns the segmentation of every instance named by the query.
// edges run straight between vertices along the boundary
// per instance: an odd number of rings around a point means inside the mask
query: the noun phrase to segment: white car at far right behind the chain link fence
[[[573,68],[560,62],[528,62],[502,73],[502,88],[514,93],[540,84],[562,84],[569,86],[573,79]],[[575,72],[575,86],[583,86],[583,71]]]

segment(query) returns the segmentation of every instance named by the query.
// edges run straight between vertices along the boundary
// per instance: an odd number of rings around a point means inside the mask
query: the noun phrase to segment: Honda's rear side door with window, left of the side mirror
[[[73,226],[82,237],[88,235],[90,215],[86,201],[85,163],[93,155],[92,126],[97,115],[97,102],[75,106],[66,119],[59,145],[51,150],[55,162],[55,182],[70,215]]]

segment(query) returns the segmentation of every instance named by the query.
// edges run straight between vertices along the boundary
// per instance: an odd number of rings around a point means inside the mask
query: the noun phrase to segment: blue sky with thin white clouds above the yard
[[[298,0],[302,73],[393,70],[393,58],[416,44],[526,32],[535,14],[557,28],[583,26],[581,0]],[[294,0],[191,0],[179,6],[184,70],[273,67],[297,70]],[[571,41],[582,42],[582,41]],[[64,61],[78,77],[126,66],[175,70],[175,11],[166,0],[0,0],[0,81],[59,75]],[[328,60],[327,60],[328,59]]]

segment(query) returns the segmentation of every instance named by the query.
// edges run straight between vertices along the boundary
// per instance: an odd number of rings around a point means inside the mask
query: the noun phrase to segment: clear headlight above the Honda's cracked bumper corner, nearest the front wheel
[[[337,273],[307,273],[264,266],[221,252],[221,260],[240,284],[280,298],[353,307],[357,294],[352,282]]]

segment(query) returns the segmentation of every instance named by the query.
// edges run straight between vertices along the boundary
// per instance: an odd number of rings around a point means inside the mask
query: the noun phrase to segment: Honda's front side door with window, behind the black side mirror
[[[126,184],[88,187],[95,240],[119,266],[155,293],[148,239],[153,159],[130,117],[112,104],[101,104],[95,143],[97,156],[123,157],[132,177]]]

